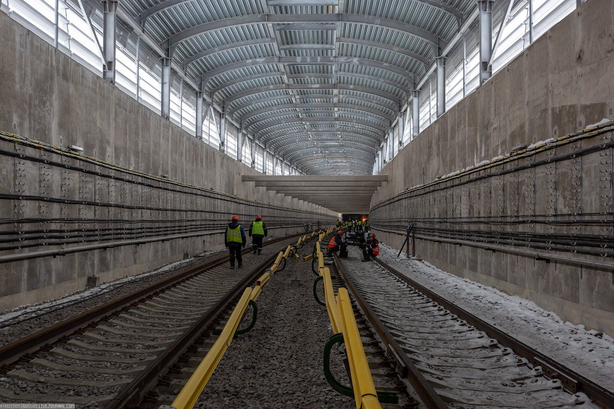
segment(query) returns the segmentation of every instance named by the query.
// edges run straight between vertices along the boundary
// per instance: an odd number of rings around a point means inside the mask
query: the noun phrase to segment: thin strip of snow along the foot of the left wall
[[[201,256],[207,256],[209,253],[212,253],[212,252],[203,253],[201,254]],[[21,307],[14,308],[10,312],[2,314],[0,316],[0,324],[6,321],[9,321],[10,319],[15,318],[16,316],[25,318],[26,316],[31,315],[31,314],[36,315],[37,312],[40,312],[42,310],[47,310],[48,308],[54,307],[55,305],[66,304],[66,303],[77,301],[80,299],[87,299],[89,297],[95,296],[96,294],[106,292],[107,289],[121,286],[130,281],[141,279],[144,277],[149,277],[150,275],[157,275],[157,274],[166,272],[171,269],[177,269],[181,267],[182,264],[185,264],[190,261],[193,261],[193,258],[172,262],[170,264],[166,264],[166,266],[160,267],[159,269],[152,270],[150,272],[117,278],[116,280],[108,281],[107,283],[101,284],[98,287],[82,289],[82,290],[73,292],[72,294],[66,294],[66,296],[58,298],[58,299],[51,299],[51,300],[41,302],[39,304],[34,304],[34,305],[21,305]]]

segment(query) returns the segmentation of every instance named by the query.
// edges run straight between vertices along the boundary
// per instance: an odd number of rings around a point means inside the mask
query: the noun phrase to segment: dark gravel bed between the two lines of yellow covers
[[[254,329],[230,344],[195,408],[356,408],[324,378],[322,353],[333,331],[313,298],[314,278],[311,261],[295,259],[273,275],[258,297]],[[332,358],[340,381],[342,365]]]

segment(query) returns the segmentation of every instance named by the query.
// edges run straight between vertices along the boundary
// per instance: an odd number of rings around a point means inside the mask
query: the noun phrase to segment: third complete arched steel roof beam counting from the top
[[[226,64],[225,66],[214,68],[208,72],[205,72],[200,77],[200,82],[207,83],[211,78],[216,75],[223,74],[228,71],[235,71],[244,67],[251,67],[255,65],[264,64],[292,64],[292,65],[331,65],[331,64],[359,64],[385,71],[393,72],[394,74],[401,75],[408,78],[410,82],[416,82],[416,75],[404,68],[394,66],[392,64],[382,63],[381,61],[374,61],[367,58],[354,58],[354,57],[336,57],[336,56],[319,56],[319,57],[303,57],[303,56],[282,56],[282,57],[264,57],[264,58],[252,58],[244,61],[236,61],[236,63]]]

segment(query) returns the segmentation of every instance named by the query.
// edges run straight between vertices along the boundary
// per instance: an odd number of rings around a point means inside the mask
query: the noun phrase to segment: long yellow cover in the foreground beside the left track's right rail
[[[223,354],[228,349],[228,345],[232,341],[233,335],[239,326],[243,312],[246,310],[249,300],[251,299],[252,289],[246,288],[243,291],[243,296],[239,299],[235,310],[230,315],[228,322],[222,330],[219,338],[211,347],[211,350],[204,357],[203,361],[198,365],[190,379],[185,383],[185,386],[181,389],[177,397],[172,403],[172,406],[177,409],[192,409],[196,400],[203,392],[209,378],[213,375],[213,371],[216,369],[222,359]]]

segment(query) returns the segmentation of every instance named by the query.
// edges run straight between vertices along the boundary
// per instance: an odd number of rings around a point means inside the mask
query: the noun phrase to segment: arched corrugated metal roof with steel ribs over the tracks
[[[258,139],[304,154],[313,172],[325,160],[365,173],[435,58],[432,39],[448,42],[475,0],[346,0],[343,10],[267,0],[122,4]]]

